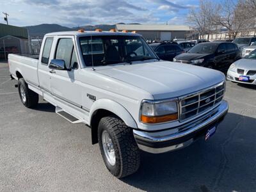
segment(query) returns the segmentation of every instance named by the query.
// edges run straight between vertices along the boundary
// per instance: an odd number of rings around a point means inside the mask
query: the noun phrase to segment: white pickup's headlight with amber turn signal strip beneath
[[[176,101],[152,102],[143,100],[140,120],[146,124],[158,124],[178,120]]]

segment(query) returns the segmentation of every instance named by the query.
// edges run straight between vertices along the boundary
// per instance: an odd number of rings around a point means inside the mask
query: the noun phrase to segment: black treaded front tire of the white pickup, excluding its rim
[[[102,132],[108,132],[115,151],[115,164],[109,163],[102,144]],[[140,167],[140,149],[132,129],[116,116],[103,117],[99,122],[98,139],[102,158],[109,172],[122,178],[135,173]]]

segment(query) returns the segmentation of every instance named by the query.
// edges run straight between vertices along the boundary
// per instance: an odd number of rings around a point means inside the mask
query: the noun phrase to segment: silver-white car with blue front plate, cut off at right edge
[[[236,83],[256,84],[256,50],[230,65],[227,79]]]

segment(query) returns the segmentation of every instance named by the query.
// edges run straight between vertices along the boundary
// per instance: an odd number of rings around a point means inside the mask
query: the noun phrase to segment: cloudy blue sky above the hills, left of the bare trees
[[[0,0],[0,13],[7,12],[9,24],[31,26],[60,24],[186,24],[194,0]],[[1,15],[1,23],[4,23]]]

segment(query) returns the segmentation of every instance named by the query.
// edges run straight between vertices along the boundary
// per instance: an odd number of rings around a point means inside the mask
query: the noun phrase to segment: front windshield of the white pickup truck
[[[141,36],[83,36],[80,45],[86,66],[92,66],[92,62],[99,66],[157,58]]]

